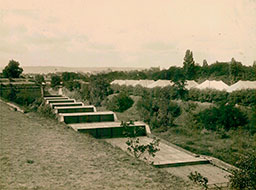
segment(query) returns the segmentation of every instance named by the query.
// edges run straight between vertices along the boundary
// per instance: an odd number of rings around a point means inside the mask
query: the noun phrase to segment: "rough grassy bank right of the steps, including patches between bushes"
[[[133,118],[140,120],[136,110],[138,97],[133,97],[133,99],[135,103],[132,108],[123,113],[117,113],[120,120],[129,121],[134,120]],[[180,101],[179,104],[184,106]],[[197,109],[205,109],[209,105],[208,103],[199,103]],[[170,127],[166,132],[153,130],[153,133],[194,153],[213,156],[230,164],[235,164],[241,154],[246,154],[246,152],[252,150],[256,151],[256,134],[250,136],[243,130],[219,134],[211,131],[201,131],[192,129],[189,122],[188,114],[183,111],[176,119],[178,126]]]

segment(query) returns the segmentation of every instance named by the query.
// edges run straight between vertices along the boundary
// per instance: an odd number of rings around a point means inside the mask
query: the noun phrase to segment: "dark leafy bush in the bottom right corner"
[[[237,162],[239,169],[232,171],[230,185],[233,189],[256,189],[256,152],[242,156]]]

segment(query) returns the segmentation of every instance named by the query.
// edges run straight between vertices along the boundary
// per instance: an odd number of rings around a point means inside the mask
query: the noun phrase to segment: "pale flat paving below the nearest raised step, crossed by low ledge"
[[[152,142],[149,137],[139,137],[141,144]],[[127,138],[105,139],[108,143],[122,150],[127,151]],[[176,176],[188,180],[190,172],[199,172],[202,176],[207,177],[209,185],[217,184],[218,186],[226,186],[230,173],[209,163],[203,157],[196,157],[182,148],[176,148],[175,145],[169,145],[165,142],[159,144],[160,151],[153,158],[154,165],[164,167],[163,170],[170,172]]]

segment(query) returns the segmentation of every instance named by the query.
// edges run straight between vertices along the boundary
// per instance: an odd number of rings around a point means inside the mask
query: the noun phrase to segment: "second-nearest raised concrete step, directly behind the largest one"
[[[112,111],[91,112],[91,113],[60,113],[58,114],[60,122],[70,123],[91,123],[91,122],[109,122],[115,121],[116,115]]]

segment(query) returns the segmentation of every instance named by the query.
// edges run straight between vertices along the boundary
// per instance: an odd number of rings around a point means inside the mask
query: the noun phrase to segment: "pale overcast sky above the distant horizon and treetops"
[[[0,66],[256,60],[256,0],[0,0]]]

